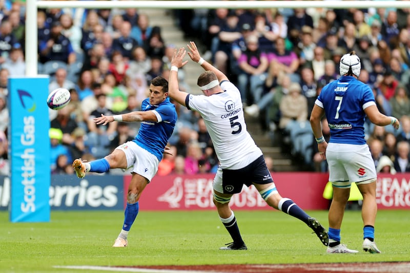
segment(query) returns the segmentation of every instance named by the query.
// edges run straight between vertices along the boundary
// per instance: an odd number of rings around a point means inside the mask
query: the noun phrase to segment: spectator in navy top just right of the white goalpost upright
[[[50,37],[40,44],[40,61],[61,61],[71,65],[75,61],[75,52],[70,40],[61,34],[61,23],[56,21],[51,26]]]

